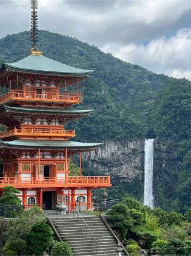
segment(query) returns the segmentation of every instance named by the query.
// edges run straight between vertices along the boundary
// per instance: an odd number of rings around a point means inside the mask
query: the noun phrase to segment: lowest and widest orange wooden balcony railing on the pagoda
[[[69,176],[60,177],[2,177],[0,188],[14,186],[16,188],[68,188],[68,187],[110,187],[110,176]]]

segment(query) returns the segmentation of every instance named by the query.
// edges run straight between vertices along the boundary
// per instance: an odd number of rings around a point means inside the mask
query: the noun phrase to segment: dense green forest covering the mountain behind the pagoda
[[[85,82],[84,103],[79,109],[95,109],[90,118],[71,124],[77,140],[124,141],[155,132],[160,140],[173,141],[181,170],[167,196],[171,209],[184,212],[191,206],[191,83],[155,74],[103,53],[76,38],[39,31],[39,49],[48,58],[79,68],[95,70]],[[30,50],[30,33],[7,35],[0,40],[0,62],[24,58]],[[85,166],[85,165],[84,165]],[[86,173],[97,170],[85,168]],[[114,182],[111,195],[135,195],[136,181]],[[168,188],[166,188],[168,189]],[[164,194],[161,194],[164,197]],[[171,197],[171,198],[169,198]]]

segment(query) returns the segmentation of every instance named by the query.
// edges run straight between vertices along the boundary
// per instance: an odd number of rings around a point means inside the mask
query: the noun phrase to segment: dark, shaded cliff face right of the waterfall
[[[170,203],[174,197],[174,185],[177,182],[180,167],[174,141],[156,138],[153,161],[155,206],[171,210]]]

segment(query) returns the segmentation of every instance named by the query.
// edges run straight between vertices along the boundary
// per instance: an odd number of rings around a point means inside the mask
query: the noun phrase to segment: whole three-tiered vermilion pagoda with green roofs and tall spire
[[[36,1],[32,3],[35,14]],[[71,155],[79,154],[81,170],[81,153],[102,143],[71,141],[75,131],[64,129],[64,125],[93,112],[68,109],[82,103],[83,81],[93,71],[43,56],[36,47],[35,23],[29,56],[4,64],[0,70],[0,122],[8,127],[0,134],[0,190],[6,185],[18,188],[27,207],[45,204],[45,209],[54,209],[64,202],[75,209],[78,200],[91,209],[91,189],[111,186],[110,177],[69,176],[69,162]]]

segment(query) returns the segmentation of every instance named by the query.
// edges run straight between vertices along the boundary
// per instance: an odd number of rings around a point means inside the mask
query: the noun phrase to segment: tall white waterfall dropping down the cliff
[[[144,205],[153,208],[153,152],[154,139],[144,141]]]

